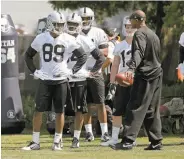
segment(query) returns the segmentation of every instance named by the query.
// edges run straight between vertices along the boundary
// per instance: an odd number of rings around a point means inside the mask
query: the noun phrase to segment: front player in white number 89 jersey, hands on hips
[[[35,113],[33,117],[33,139],[23,150],[40,149],[40,127],[42,114],[51,110],[52,101],[56,113],[55,136],[52,150],[61,150],[62,131],[64,125],[64,106],[68,93],[67,77],[75,74],[86,62],[87,56],[76,43],[73,36],[64,33],[65,17],[53,12],[47,17],[47,32],[36,36],[31,46],[25,53],[25,61],[34,76],[40,79],[35,99]],[[69,53],[73,52],[77,63],[72,71],[67,68]],[[36,53],[40,55],[41,68],[36,69],[33,57]]]

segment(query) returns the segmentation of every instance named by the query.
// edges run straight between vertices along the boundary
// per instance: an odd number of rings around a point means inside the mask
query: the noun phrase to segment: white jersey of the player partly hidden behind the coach
[[[126,65],[126,63],[131,58],[131,45],[128,44],[126,40],[123,40],[115,46],[114,55],[119,56],[121,59],[118,72],[127,71],[128,66]]]

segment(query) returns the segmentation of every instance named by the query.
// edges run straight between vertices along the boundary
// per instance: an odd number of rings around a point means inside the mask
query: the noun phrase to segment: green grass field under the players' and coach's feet
[[[41,135],[41,150],[22,151],[21,147],[32,139],[30,134],[2,135],[1,157],[3,159],[184,159],[184,136],[165,136],[162,151],[144,151],[148,141],[146,137],[138,138],[133,150],[115,151],[100,146],[100,138],[94,142],[84,142],[81,138],[80,148],[71,149],[71,138],[64,137],[62,151],[51,150],[53,136]]]

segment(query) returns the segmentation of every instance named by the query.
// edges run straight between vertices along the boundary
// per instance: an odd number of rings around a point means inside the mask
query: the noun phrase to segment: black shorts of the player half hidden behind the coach
[[[127,104],[130,100],[131,87],[122,87],[117,85],[113,103],[113,115],[125,115]]]

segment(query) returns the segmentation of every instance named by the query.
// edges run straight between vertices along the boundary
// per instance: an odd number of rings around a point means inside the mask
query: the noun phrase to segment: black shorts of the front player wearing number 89
[[[40,80],[35,99],[36,111],[50,111],[53,102],[55,113],[63,113],[67,99],[67,90],[67,82],[47,85]]]

